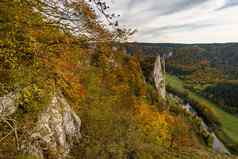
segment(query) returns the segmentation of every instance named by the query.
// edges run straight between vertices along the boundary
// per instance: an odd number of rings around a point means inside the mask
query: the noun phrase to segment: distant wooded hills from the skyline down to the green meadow
[[[237,115],[238,44],[129,43],[127,51],[137,50],[147,63],[161,55],[166,71],[176,75],[184,86]],[[149,65],[149,64],[148,64]]]

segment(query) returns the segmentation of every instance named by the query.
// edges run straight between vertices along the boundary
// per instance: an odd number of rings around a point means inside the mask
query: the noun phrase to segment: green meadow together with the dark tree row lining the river
[[[193,105],[199,116],[213,130],[232,154],[238,154],[238,118],[220,110],[207,99],[187,90],[175,76],[167,75],[167,90]],[[194,105],[195,104],[195,105]]]

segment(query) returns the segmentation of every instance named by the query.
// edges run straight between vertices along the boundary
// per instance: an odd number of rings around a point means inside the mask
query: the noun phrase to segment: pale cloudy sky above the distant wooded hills
[[[108,0],[136,42],[238,42],[238,0]]]

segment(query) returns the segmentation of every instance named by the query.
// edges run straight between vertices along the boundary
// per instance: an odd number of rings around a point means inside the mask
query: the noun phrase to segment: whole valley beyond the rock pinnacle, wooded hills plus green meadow
[[[235,60],[238,60],[238,52],[236,52],[238,44],[138,43],[128,46],[129,53],[132,50],[137,50],[139,53],[146,77],[151,75],[150,70],[155,57],[157,55],[164,57],[167,91],[192,103],[218,138],[231,151],[237,153],[236,71],[238,68]],[[230,58],[225,57],[228,54]],[[147,78],[147,81],[153,82],[150,78]]]

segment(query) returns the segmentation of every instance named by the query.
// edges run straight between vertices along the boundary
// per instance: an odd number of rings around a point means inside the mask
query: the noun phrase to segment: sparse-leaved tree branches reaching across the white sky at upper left
[[[126,40],[135,30],[120,28],[104,0],[21,0],[46,17],[48,24],[90,41]],[[99,21],[98,17],[104,17]],[[112,28],[109,31],[109,27]]]

